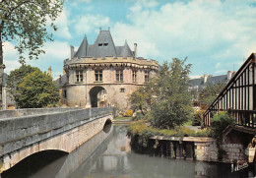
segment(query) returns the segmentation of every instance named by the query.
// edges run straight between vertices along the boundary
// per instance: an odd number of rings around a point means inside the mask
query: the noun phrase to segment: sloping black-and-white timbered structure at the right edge
[[[255,103],[254,103],[253,97],[254,97],[254,90],[255,90],[254,89],[255,88],[255,77],[254,77],[255,63],[256,63],[256,55],[255,55],[255,53],[252,53],[248,57],[248,59],[243,63],[243,65],[239,68],[239,70],[235,73],[235,75],[231,78],[231,80],[226,84],[224,89],[220,92],[220,94],[213,101],[213,103],[205,111],[205,113],[203,115],[205,126],[211,126],[211,118],[212,118],[213,112],[218,113],[219,111],[228,109],[228,111],[232,110],[232,111],[235,111],[235,113],[237,113],[237,112],[246,112],[247,110],[250,110],[249,106],[243,106],[243,105],[241,107],[247,107],[247,108],[246,109],[237,109],[237,105],[239,105],[239,107],[240,107],[240,104],[241,104],[241,103],[237,102],[237,100],[236,100],[237,97],[239,97],[238,99],[241,98],[240,100],[243,101],[244,97],[250,96],[248,99],[247,98],[245,98],[245,99],[247,99],[246,102],[248,102],[248,105],[251,104],[250,102],[252,100],[253,106],[251,106],[251,108],[252,108],[252,111],[254,112],[253,109],[254,109]],[[250,73],[250,69],[249,69],[250,65],[252,66],[251,73]],[[252,84],[249,84],[250,81],[252,82]],[[236,86],[237,82],[238,82],[238,86]],[[243,84],[240,84],[240,83],[243,83]],[[234,87],[234,85],[235,85],[235,87]],[[249,88],[251,88],[251,90]],[[237,91],[237,89],[238,89],[238,91]],[[232,92],[232,93],[230,93],[230,92]],[[238,95],[236,95],[236,93]],[[227,94],[229,94],[229,96]],[[246,95],[246,94],[248,94],[248,95]],[[241,97],[240,97],[240,95],[241,95]],[[232,97],[232,99],[230,99],[230,97]],[[235,101],[234,101],[234,99],[235,99]],[[221,107],[220,107],[220,101],[222,101]],[[232,108],[232,107],[230,107],[230,105],[232,105],[232,106],[235,105],[236,108]],[[229,106],[229,107],[227,107],[227,106]],[[249,116],[249,117],[254,118],[254,116]],[[251,127],[251,125],[249,125],[249,127]],[[254,127],[254,125],[252,127]]]

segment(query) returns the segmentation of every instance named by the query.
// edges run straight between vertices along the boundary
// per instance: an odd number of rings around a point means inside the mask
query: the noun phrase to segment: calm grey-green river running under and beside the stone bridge
[[[224,163],[135,153],[130,150],[125,127],[109,126],[70,154],[52,151],[37,154],[3,173],[2,178],[238,178],[251,174],[248,169],[231,173],[230,165]]]

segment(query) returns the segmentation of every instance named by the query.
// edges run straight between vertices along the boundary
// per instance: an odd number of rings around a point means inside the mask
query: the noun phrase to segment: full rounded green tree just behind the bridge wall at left
[[[55,106],[59,101],[59,91],[52,78],[36,69],[18,85],[17,104],[21,108]]]

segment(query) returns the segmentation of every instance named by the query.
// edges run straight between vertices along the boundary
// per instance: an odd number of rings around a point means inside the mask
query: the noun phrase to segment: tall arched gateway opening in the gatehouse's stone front
[[[92,107],[106,107],[106,89],[96,86],[90,89],[90,100]]]

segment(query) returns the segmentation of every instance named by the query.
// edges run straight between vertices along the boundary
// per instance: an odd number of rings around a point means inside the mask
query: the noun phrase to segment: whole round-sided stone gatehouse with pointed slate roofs
[[[68,106],[128,109],[129,95],[159,69],[157,61],[136,56],[137,44],[134,50],[126,42],[115,46],[109,30],[100,30],[94,45],[85,38],[78,51],[72,47],[71,59],[64,61],[65,79],[57,81],[62,101]]]

